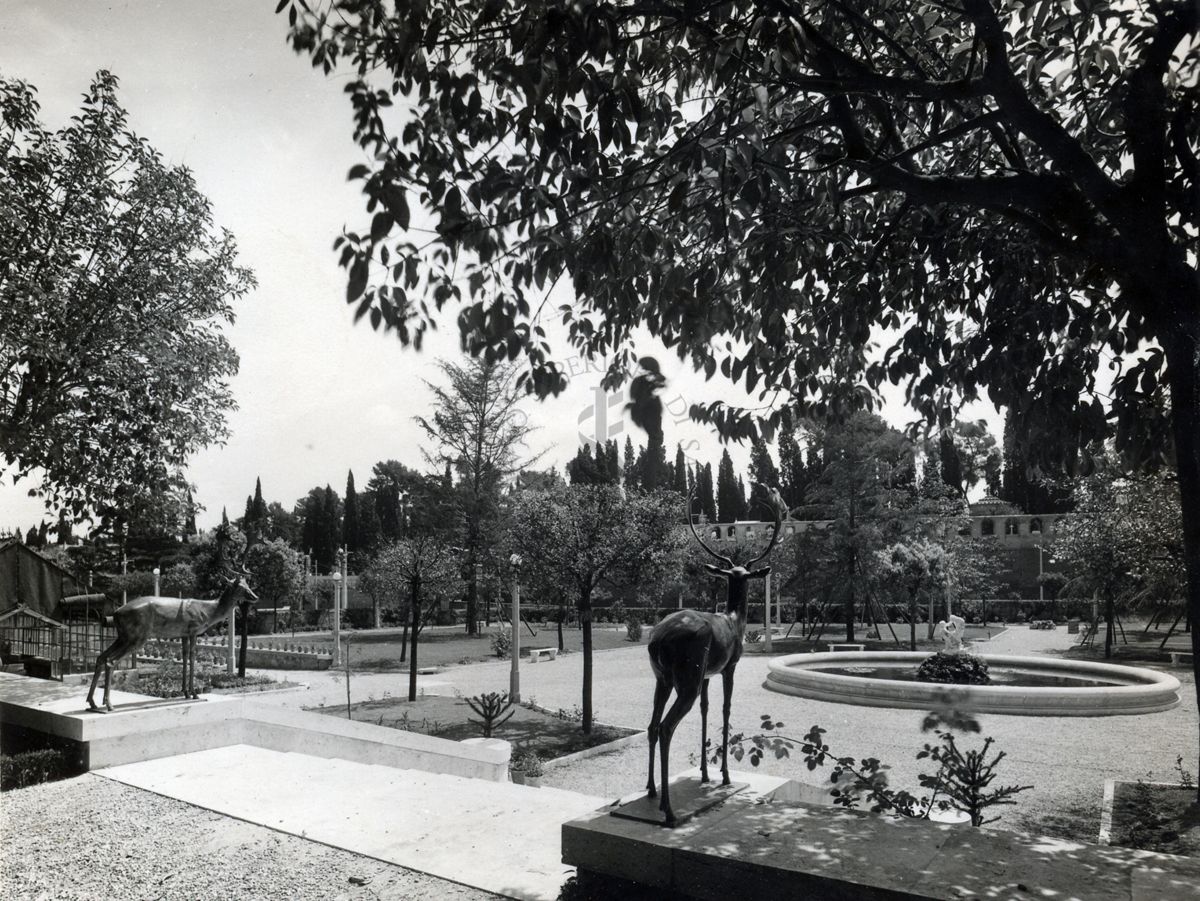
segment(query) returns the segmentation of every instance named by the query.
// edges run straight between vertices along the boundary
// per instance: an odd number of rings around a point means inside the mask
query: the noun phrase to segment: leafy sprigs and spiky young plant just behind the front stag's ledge
[[[928,795],[917,797],[905,789],[894,789],[888,785],[887,771],[890,769],[876,757],[838,756],[824,743],[826,731],[814,726],[802,739],[791,738],[779,732],[784,723],[770,714],[762,715],[762,732],[748,735],[738,732],[730,737],[730,753],[734,761],[748,759],[757,767],[766,755],[776,759],[791,757],[792,751],[799,751],[810,771],[818,767],[832,765],[829,782],[833,788],[834,804],[857,810],[862,804],[870,805],[872,813],[893,813],[913,819],[928,819],[930,812],[937,810],[960,810],[971,817],[971,825],[992,823],[1000,817],[986,819],[988,807],[1015,804],[1013,795],[1028,791],[1033,786],[1000,786],[990,788],[996,779],[996,768],[1004,759],[1004,752],[998,751],[988,758],[994,743],[984,739],[983,747],[964,751],[954,738],[954,731],[979,732],[979,723],[973,717],[950,711],[931,713],[922,723],[922,732],[937,732],[941,744],[926,744],[917,753],[917,759],[931,759],[938,764],[935,774],[920,774],[918,781],[922,788],[929,789]],[[710,745],[712,743],[709,743]],[[706,749],[718,762],[719,751]]]

